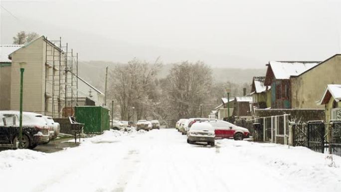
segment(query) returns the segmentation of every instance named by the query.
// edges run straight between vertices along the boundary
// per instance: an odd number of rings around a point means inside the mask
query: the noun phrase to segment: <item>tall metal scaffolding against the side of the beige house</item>
[[[67,117],[78,105],[78,53],[61,37],[45,42],[45,115]]]

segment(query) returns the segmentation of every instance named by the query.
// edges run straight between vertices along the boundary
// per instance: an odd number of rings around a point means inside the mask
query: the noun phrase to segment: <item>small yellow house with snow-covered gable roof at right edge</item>
[[[341,85],[329,84],[327,85],[319,105],[325,105],[326,108],[326,122],[330,120],[340,119],[338,113],[341,112]]]

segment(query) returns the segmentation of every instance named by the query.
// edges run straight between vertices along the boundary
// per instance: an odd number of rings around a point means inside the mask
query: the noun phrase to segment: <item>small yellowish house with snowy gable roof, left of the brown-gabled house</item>
[[[264,85],[265,77],[253,77],[250,95],[254,105],[260,109],[271,107],[271,86]]]

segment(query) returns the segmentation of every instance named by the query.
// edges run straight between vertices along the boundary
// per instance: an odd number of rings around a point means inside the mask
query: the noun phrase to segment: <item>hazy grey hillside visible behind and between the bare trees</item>
[[[116,65],[124,63],[112,61],[79,61],[79,76],[90,84],[104,92],[105,67],[108,71],[114,70]],[[165,64],[161,68],[158,78],[166,78],[172,64]],[[253,76],[265,76],[266,67],[262,69],[238,69],[238,68],[212,68],[212,76],[216,82],[248,83],[251,85]]]

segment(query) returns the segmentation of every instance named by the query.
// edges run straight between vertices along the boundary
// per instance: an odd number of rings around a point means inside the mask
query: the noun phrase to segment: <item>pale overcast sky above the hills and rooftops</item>
[[[261,68],[340,53],[341,0],[1,0],[1,44],[61,36],[81,60]],[[6,10],[5,10],[5,9]],[[9,13],[9,12],[10,13]]]

